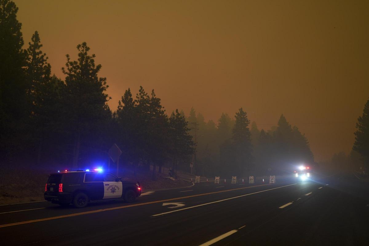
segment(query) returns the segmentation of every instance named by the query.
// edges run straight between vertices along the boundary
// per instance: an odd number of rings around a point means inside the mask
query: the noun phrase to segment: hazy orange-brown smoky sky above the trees
[[[87,42],[113,111],[142,85],[167,112],[206,120],[243,107],[269,129],[283,113],[317,161],[352,148],[369,98],[369,1],[14,1],[25,47],[39,31],[56,76]]]

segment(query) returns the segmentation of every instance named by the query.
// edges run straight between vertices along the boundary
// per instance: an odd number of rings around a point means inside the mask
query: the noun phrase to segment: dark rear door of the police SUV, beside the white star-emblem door
[[[104,197],[103,173],[85,173],[84,184],[91,200],[101,200]]]

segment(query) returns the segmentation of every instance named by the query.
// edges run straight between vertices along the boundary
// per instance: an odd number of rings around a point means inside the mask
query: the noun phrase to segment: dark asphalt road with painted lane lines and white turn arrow
[[[83,209],[0,206],[1,245],[369,245],[369,183],[354,174],[143,192]]]

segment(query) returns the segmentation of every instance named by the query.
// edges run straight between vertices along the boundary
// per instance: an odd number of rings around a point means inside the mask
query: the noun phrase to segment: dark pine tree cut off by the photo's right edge
[[[366,167],[369,167],[369,100],[366,101],[363,115],[358,118],[356,129],[353,149],[362,156]]]

